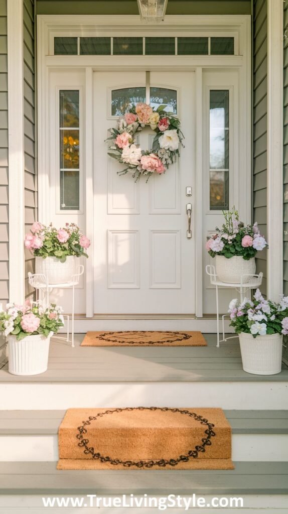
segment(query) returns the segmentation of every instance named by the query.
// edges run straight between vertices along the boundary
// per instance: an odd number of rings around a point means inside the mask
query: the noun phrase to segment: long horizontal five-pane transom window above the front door
[[[54,37],[54,55],[233,56],[234,36]]]

